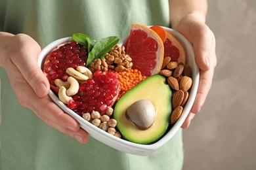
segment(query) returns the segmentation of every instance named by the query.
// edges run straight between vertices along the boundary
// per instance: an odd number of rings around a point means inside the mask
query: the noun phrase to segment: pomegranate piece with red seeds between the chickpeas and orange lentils
[[[93,78],[85,84],[80,84],[79,91],[72,98],[76,108],[73,109],[82,116],[87,112],[97,111],[104,114],[109,106],[114,103],[119,89],[119,80],[116,73],[108,71],[95,71]]]

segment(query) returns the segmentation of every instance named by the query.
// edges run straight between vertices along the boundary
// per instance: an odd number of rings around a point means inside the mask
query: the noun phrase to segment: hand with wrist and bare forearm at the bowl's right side
[[[171,27],[182,33],[194,48],[196,64],[200,69],[198,92],[182,128],[187,128],[200,111],[211,88],[217,64],[215,36],[205,24],[206,0],[169,0]]]

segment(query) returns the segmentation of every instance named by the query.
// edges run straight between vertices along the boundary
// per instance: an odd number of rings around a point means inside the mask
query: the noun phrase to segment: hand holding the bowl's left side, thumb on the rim
[[[47,95],[49,81],[37,65],[41,48],[24,34],[0,33],[0,66],[5,68],[20,105],[31,109],[47,125],[87,143],[88,133]]]

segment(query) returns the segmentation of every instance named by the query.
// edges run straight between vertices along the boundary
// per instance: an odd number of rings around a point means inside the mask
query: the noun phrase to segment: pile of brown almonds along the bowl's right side
[[[182,110],[188,100],[192,86],[192,70],[189,65],[171,61],[170,57],[163,58],[160,75],[167,78],[167,82],[173,90],[171,124],[175,124],[182,114]]]

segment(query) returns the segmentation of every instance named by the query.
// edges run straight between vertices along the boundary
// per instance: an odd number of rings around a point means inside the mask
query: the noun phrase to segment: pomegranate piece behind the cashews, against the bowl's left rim
[[[57,78],[63,81],[68,79],[68,74],[66,73],[68,67],[75,69],[79,65],[85,66],[87,50],[77,42],[68,41],[54,49],[47,56],[47,59],[44,73],[47,74],[50,84],[54,86],[54,80]]]

